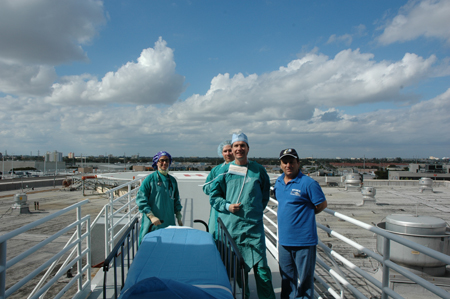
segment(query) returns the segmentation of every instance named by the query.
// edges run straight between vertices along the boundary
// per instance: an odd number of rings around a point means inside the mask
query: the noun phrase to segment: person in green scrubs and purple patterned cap
[[[148,175],[139,188],[136,196],[136,204],[142,213],[139,244],[149,232],[151,224],[152,231],[165,228],[175,225],[176,217],[178,225],[183,226],[178,184],[176,179],[169,175],[171,163],[172,157],[168,152],[158,152],[153,157],[153,169],[157,170]]]

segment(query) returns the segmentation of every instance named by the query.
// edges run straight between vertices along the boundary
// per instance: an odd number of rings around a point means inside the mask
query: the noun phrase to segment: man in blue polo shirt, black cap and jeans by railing
[[[278,260],[281,299],[313,298],[316,245],[316,214],[327,207],[319,184],[300,171],[297,151],[282,150],[283,174],[274,191],[278,200]]]

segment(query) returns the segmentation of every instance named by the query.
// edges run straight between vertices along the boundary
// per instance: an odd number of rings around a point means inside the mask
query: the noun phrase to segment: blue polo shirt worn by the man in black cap
[[[322,188],[299,171],[287,184],[284,174],[275,187],[278,201],[278,241],[283,246],[314,246],[318,243],[315,206],[326,200]]]

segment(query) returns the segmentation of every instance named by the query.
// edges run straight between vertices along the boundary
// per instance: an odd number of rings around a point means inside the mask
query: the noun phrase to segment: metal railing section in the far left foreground
[[[56,296],[53,298],[61,298],[64,293],[66,293],[72,285],[77,284],[77,292],[73,298],[85,298],[87,294],[90,292],[91,287],[91,244],[90,244],[90,236],[91,236],[91,226],[90,226],[90,216],[81,217],[81,206],[89,203],[89,200],[81,201],[77,204],[71,205],[67,208],[64,208],[54,214],[51,214],[47,217],[44,217],[40,220],[32,222],[30,224],[24,225],[21,228],[18,228],[14,231],[6,233],[3,236],[0,236],[0,299],[5,299],[11,296],[14,292],[18,291],[25,284],[30,282],[40,273],[42,273],[47,267],[49,267],[52,263],[57,261],[60,257],[68,254],[69,251],[73,248],[76,248],[76,256],[66,264],[65,267],[62,267],[60,271],[58,271],[52,279],[50,279],[44,286],[39,289],[35,289],[33,294],[29,297],[31,299],[39,298],[42,294],[47,292],[47,290],[55,284],[55,282],[61,278],[63,275],[67,273],[72,267],[77,265],[77,274],[69,280],[66,286],[58,292]],[[46,238],[45,240],[39,242],[35,246],[25,250],[14,258],[7,260],[7,243],[10,239],[25,233],[31,229],[36,228],[39,225],[42,225],[56,217],[62,216],[72,210],[76,210],[76,221],[66,226],[62,230],[53,234],[52,236]],[[82,232],[82,226],[86,227],[85,232]],[[33,255],[39,250],[43,249],[45,246],[52,244],[58,237],[63,236],[64,234],[76,230],[76,239],[72,242],[68,243],[63,249],[58,251],[53,257],[51,257],[47,261],[43,261],[43,263],[38,266],[36,269],[28,273],[24,278],[15,282],[9,288],[6,288],[6,272],[8,269],[13,267],[14,265],[20,265],[21,262],[24,261],[27,257]],[[83,241],[85,241],[85,245],[83,246]],[[53,248],[55,248],[54,246]],[[83,265],[84,262],[84,265]],[[10,270],[12,271],[12,270]],[[85,277],[85,281],[83,281],[83,276]]]

